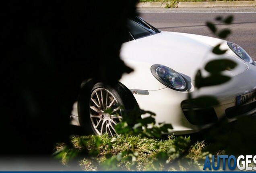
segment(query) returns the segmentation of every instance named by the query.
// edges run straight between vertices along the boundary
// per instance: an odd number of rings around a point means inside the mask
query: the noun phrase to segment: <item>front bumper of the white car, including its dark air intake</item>
[[[156,114],[157,123],[169,123],[173,129],[170,134],[188,134],[207,128],[219,121],[227,119],[234,121],[237,117],[248,116],[256,113],[256,102],[248,105],[237,106],[237,96],[256,91],[256,68],[237,74],[229,82],[213,87],[194,89],[191,82],[190,91],[174,91],[169,88],[157,91],[148,91],[149,95],[134,95],[140,109],[152,111]],[[192,97],[211,95],[217,98],[220,105],[207,109],[196,108],[198,116],[188,117],[188,109],[182,109],[181,103],[188,99],[188,92]],[[203,121],[202,121],[203,120]],[[205,121],[204,121],[205,120]],[[196,123],[199,122],[199,123]]]

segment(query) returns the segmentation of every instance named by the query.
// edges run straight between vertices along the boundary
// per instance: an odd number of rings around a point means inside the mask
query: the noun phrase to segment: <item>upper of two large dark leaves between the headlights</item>
[[[204,69],[210,73],[219,73],[224,70],[230,70],[235,68],[237,64],[229,59],[212,60],[208,62]]]

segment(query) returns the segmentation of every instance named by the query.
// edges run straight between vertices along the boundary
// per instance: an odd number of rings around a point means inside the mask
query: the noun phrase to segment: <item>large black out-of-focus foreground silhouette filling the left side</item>
[[[81,82],[114,85],[137,0],[9,0],[2,4],[0,154],[50,155],[69,141]]]

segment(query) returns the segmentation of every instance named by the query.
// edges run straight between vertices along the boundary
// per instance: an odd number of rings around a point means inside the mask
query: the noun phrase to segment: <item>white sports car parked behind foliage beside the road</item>
[[[91,128],[98,135],[114,135],[114,125],[122,120],[118,105],[132,109],[138,104],[140,109],[155,113],[157,123],[170,123],[173,129],[169,133],[175,135],[194,133],[199,126],[207,127],[223,116],[233,121],[238,116],[256,113],[256,63],[240,46],[207,36],[159,31],[140,17],[128,20],[128,27],[130,38],[122,44],[120,56],[134,72],[124,74],[114,88],[91,82],[91,100],[87,101],[81,93],[72,111],[72,125]],[[213,54],[217,44],[227,52]],[[223,72],[231,80],[196,89],[197,70],[203,69],[209,60],[221,58],[237,64]],[[86,88],[88,83],[82,87]],[[212,95],[220,104],[209,108],[194,105],[192,117],[188,93],[193,97]],[[108,108],[112,113],[105,113]]]

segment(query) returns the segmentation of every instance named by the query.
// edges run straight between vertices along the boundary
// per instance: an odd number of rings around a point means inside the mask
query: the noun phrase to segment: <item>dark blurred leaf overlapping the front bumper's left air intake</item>
[[[193,99],[193,103],[195,103],[200,108],[207,108],[219,105],[219,101],[213,96],[200,96]]]

